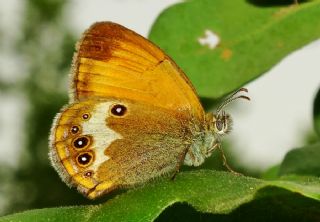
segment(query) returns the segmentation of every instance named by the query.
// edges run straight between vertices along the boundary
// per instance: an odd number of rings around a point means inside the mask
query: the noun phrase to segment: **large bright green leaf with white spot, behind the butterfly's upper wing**
[[[163,11],[149,38],[186,72],[201,97],[216,99],[319,38],[319,14],[319,0],[273,7],[189,0]],[[220,39],[214,49],[199,43],[206,30]]]

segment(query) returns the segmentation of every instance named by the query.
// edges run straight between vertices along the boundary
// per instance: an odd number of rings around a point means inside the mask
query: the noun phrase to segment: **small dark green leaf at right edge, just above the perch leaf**
[[[285,156],[280,175],[298,174],[320,176],[320,143],[291,150]]]

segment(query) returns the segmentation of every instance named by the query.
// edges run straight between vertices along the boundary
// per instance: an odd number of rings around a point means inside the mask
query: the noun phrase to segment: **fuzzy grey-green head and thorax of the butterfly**
[[[229,114],[206,114],[202,124],[194,124],[192,128],[192,142],[184,159],[188,166],[200,166],[206,158],[211,156],[213,150],[221,143],[221,137],[231,130],[231,117]]]

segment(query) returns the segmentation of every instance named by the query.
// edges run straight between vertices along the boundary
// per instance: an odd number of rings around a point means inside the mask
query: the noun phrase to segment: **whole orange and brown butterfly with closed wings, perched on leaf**
[[[112,22],[76,46],[70,102],[54,119],[49,157],[62,180],[90,199],[199,166],[230,130],[222,108],[205,113],[183,71],[159,47]]]

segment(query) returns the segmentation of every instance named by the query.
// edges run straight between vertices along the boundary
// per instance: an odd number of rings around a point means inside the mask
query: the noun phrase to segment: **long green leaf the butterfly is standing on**
[[[290,194],[291,199],[302,198],[320,206],[319,178],[263,181],[227,172],[197,170],[180,173],[175,181],[158,179],[104,204],[31,210],[2,217],[0,221],[153,221],[177,203],[187,203],[205,214],[227,214],[261,199],[278,198],[278,202],[285,202],[279,195],[283,192]],[[268,206],[259,207],[261,210]]]

